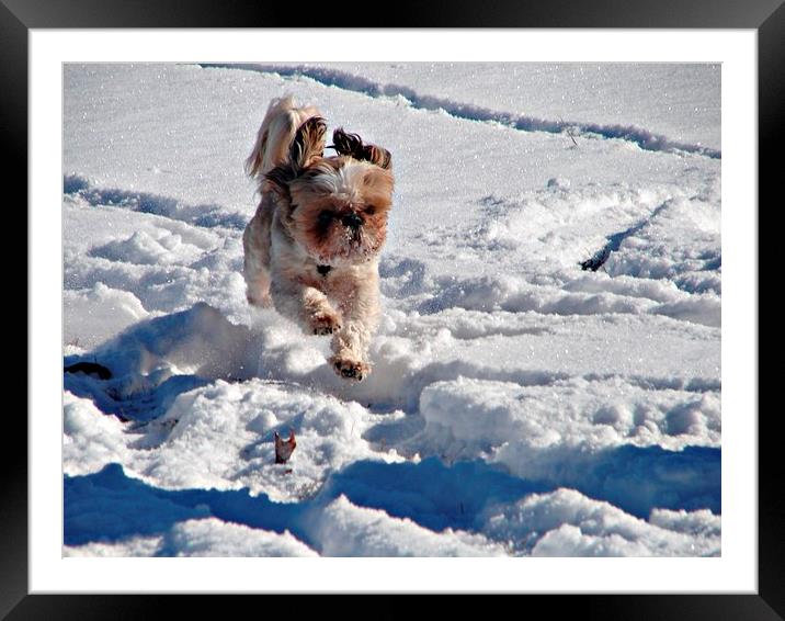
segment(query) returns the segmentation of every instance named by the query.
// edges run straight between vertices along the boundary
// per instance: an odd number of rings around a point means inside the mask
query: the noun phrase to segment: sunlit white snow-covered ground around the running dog
[[[360,384],[244,300],[284,93],[392,153]],[[64,554],[718,555],[719,113],[706,65],[66,66],[64,363],[112,377],[64,374]]]

